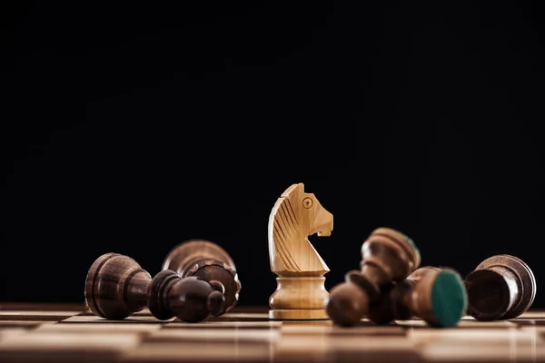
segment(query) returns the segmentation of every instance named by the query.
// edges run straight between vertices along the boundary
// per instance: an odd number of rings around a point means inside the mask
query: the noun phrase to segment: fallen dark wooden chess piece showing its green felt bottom
[[[389,285],[370,305],[368,318],[387,324],[417,317],[431,327],[451,328],[465,314],[467,304],[466,289],[457,271],[426,266]]]

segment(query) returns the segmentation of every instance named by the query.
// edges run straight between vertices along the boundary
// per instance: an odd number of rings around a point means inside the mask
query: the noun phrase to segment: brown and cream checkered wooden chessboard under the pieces
[[[0,362],[545,362],[545,310],[430,328],[421,319],[342,328],[236,306],[198,323],[148,310],[123,320],[84,305],[0,303]]]

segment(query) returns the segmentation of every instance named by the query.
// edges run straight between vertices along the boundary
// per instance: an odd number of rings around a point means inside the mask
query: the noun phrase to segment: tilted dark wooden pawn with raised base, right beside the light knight
[[[405,279],[420,262],[420,252],[407,236],[389,228],[372,231],[362,244],[360,270],[347,272],[325,300],[327,314],[337,325],[357,324],[383,287]]]

